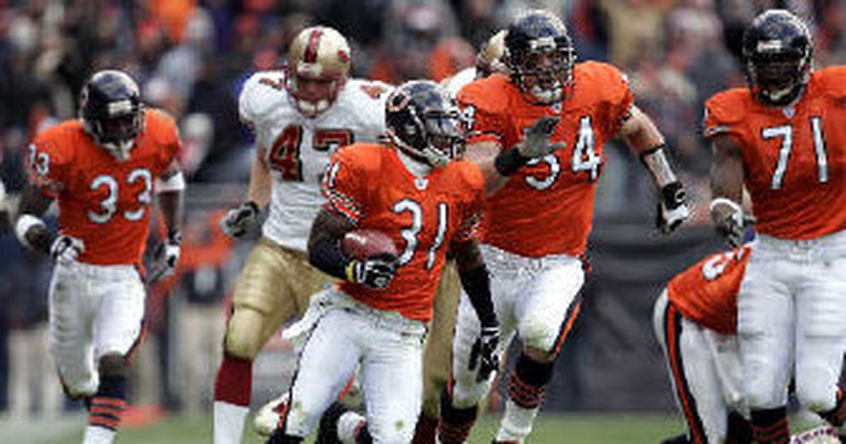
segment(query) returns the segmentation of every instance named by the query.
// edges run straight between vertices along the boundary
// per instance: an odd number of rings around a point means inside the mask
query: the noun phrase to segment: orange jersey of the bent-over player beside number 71
[[[751,249],[710,255],[673,277],[667,297],[682,315],[722,334],[737,332],[737,296]]]

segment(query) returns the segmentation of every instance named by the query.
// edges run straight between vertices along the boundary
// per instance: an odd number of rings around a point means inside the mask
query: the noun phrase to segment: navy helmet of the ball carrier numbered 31
[[[385,103],[391,143],[418,161],[442,167],[464,151],[466,126],[458,103],[430,80],[399,85]]]

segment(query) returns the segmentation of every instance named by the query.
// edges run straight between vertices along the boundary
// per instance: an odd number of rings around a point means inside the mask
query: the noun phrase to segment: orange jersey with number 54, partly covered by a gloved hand
[[[585,252],[591,233],[602,144],[617,133],[634,97],[623,74],[605,63],[580,63],[560,104],[532,105],[503,74],[464,86],[458,96],[473,120],[469,142],[495,140],[504,149],[544,115],[560,116],[553,142],[567,147],[531,161],[489,197],[481,239],[528,257]]]

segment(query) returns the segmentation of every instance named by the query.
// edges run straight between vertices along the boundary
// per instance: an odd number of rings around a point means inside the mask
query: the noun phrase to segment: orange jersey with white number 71
[[[755,231],[818,238],[846,228],[846,68],[811,75],[794,107],[766,107],[748,88],[706,103],[705,134],[728,134],[743,155]]]

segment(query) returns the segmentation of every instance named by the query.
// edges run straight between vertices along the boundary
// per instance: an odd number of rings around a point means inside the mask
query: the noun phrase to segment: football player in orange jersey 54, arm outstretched
[[[481,250],[491,268],[502,353],[523,342],[510,376],[496,441],[529,435],[552,377],[553,362],[580,308],[580,256],[591,231],[602,144],[621,135],[652,173],[657,226],[673,231],[688,217],[684,187],[664,155],[662,134],[634,106],[624,75],[604,63],[575,64],[573,42],[558,17],[531,11],[505,36],[508,74],[492,74],[459,92],[473,122],[467,158],[486,175],[489,196]],[[526,131],[527,127],[535,131]],[[540,129],[540,131],[537,131]],[[558,150],[530,159],[537,146]],[[479,326],[462,300],[453,341],[453,386],[442,397],[442,442],[463,442],[493,378],[469,369]]]

